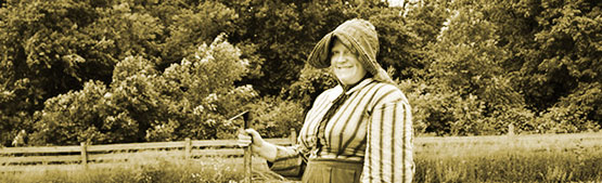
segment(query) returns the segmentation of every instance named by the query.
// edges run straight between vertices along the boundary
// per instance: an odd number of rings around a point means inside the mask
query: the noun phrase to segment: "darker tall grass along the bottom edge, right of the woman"
[[[483,156],[419,155],[417,182],[602,181],[602,153],[499,152]]]

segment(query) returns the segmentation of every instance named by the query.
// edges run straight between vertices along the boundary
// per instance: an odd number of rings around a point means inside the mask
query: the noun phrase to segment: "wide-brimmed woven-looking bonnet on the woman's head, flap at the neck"
[[[388,74],[376,62],[379,53],[379,35],[370,22],[364,19],[349,19],[324,36],[309,54],[307,62],[316,68],[330,66],[330,49],[333,38],[338,39],[347,49],[358,55],[358,60],[373,79],[393,82]]]

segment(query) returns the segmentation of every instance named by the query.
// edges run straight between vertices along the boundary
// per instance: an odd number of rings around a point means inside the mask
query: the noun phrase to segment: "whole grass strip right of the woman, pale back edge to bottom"
[[[417,146],[415,182],[602,181],[602,134],[496,136]]]

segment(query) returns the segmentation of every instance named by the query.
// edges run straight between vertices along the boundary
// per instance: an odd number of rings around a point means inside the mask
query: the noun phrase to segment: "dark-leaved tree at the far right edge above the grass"
[[[602,10],[597,1],[525,1],[526,17],[537,23],[534,45],[525,48],[521,86],[531,107],[546,113],[547,128],[561,132],[599,129]]]

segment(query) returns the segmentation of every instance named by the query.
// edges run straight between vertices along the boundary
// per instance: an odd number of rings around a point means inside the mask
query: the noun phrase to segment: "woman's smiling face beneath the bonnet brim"
[[[330,64],[334,75],[343,84],[359,82],[366,75],[366,69],[359,63],[357,54],[353,53],[338,39],[330,51]]]

